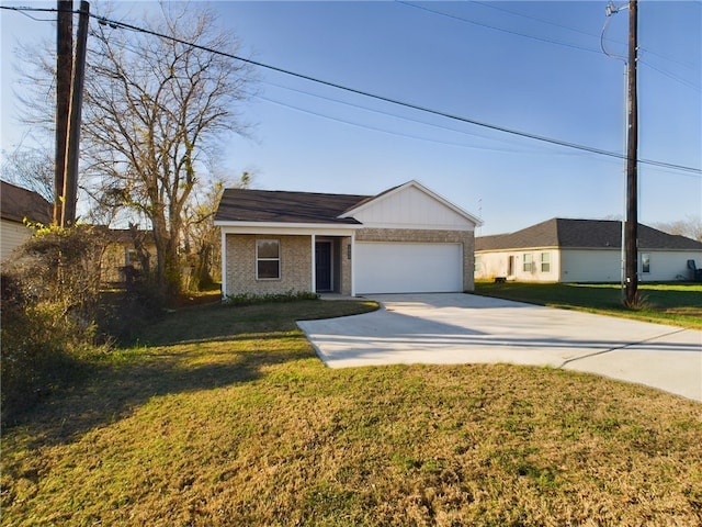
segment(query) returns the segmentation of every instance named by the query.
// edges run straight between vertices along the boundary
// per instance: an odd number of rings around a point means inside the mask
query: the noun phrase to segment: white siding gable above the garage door
[[[349,211],[364,227],[474,231],[478,220],[410,181]]]

